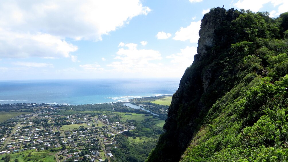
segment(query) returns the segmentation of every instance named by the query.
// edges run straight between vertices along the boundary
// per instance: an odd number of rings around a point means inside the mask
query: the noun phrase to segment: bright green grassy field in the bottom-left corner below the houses
[[[33,149],[33,150],[22,151],[19,153],[12,153],[9,155],[11,156],[10,161],[15,161],[15,159],[18,159],[19,162],[24,162],[24,161],[28,161],[28,159],[30,158],[32,161],[51,162],[51,161],[56,161],[54,159],[54,155],[56,152],[58,152],[58,150],[51,152],[50,150],[35,151],[35,149]],[[5,156],[6,155],[1,155],[0,159]],[[4,161],[4,160],[0,160],[0,161]]]

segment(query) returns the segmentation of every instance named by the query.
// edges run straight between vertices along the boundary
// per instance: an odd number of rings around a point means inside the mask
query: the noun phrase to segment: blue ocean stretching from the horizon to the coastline
[[[0,81],[0,104],[96,104],[172,95],[180,79]]]

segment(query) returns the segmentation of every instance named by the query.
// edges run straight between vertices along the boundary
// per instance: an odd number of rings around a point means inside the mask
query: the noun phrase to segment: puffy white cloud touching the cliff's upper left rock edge
[[[174,40],[186,41],[190,40],[191,43],[197,43],[199,39],[201,20],[198,22],[191,22],[186,28],[181,27],[180,31],[175,33]]]

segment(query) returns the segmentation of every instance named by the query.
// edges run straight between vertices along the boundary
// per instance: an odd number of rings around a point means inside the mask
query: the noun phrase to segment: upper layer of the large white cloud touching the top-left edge
[[[139,0],[5,1],[0,6],[0,26],[12,31],[36,31],[75,40],[100,40],[101,35],[150,11]]]

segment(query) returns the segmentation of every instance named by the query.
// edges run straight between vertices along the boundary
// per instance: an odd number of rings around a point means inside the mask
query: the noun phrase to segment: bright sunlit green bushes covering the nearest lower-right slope
[[[252,156],[256,161],[287,161],[288,75],[271,81],[257,77],[217,100],[182,160],[247,161]]]

